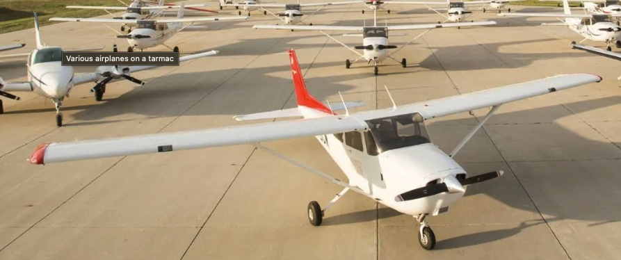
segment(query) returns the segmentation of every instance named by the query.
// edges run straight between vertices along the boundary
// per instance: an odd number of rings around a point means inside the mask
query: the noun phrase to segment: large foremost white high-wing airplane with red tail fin
[[[307,216],[311,225],[321,225],[325,212],[349,190],[353,190],[396,211],[414,216],[421,225],[417,230],[420,245],[426,250],[432,250],[436,239],[430,225],[425,221],[426,216],[447,213],[449,207],[464,196],[466,186],[503,174],[502,171],[493,171],[469,177],[453,160],[455,154],[492,114],[502,104],[602,80],[592,74],[564,74],[405,106],[396,106],[393,101],[391,108],[350,114],[348,108],[361,104],[342,101],[341,104],[328,103],[326,106],[317,101],[307,92],[293,50],[289,50],[289,62],[298,106],[234,118],[303,119],[147,136],[45,143],[35,149],[29,161],[45,164],[251,144],[343,187],[323,209],[318,202],[308,204]],[[445,154],[431,143],[425,120],[487,107],[491,107],[490,112],[450,154]],[[346,111],[345,115],[334,112],[343,109]],[[341,181],[261,145],[262,142],[272,140],[309,136],[315,136],[346,174],[348,181]]]

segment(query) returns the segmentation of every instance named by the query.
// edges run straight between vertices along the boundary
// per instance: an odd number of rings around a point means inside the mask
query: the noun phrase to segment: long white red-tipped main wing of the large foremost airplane
[[[33,164],[45,164],[204,147],[253,144],[346,131],[364,131],[368,128],[365,120],[410,113],[421,113],[425,119],[441,117],[544,95],[601,80],[601,77],[592,74],[563,74],[511,86],[423,101],[396,109],[364,111],[348,116],[331,115],[311,119],[244,124],[237,127],[156,133],[125,138],[45,143],[35,149],[29,161]]]

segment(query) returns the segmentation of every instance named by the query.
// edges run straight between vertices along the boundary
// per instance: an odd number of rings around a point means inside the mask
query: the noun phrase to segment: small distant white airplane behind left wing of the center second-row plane
[[[345,1],[345,2],[330,2],[330,3],[252,3],[252,4],[223,3],[223,5],[238,6],[238,7],[241,6],[242,8],[264,8],[264,11],[266,13],[274,15],[278,19],[282,20],[284,24],[303,24],[303,20],[304,20],[302,19],[304,15],[302,13],[303,7],[314,7],[314,6],[320,7],[317,10],[314,10],[314,12],[310,14],[310,15],[313,15],[314,13],[317,13],[319,10],[323,9],[325,6],[341,6],[341,5],[348,5],[352,3],[360,3],[360,1]],[[267,10],[266,8],[284,8],[284,13],[274,14],[270,12],[269,10]],[[241,15],[241,11],[239,11],[239,15]],[[307,17],[310,17],[310,15],[308,15]],[[281,17],[284,17],[284,19],[282,19]],[[309,25],[313,25],[313,24],[311,23]]]

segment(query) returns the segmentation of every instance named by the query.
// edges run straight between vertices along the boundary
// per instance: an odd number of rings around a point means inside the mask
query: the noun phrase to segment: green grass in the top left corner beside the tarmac
[[[124,0],[131,3],[131,0]],[[173,2],[166,0],[167,3]],[[68,9],[65,6],[123,6],[117,0],[0,0],[0,33],[9,33],[35,26],[33,11],[37,11],[39,24],[55,24],[51,17],[93,17],[106,15],[104,10]]]

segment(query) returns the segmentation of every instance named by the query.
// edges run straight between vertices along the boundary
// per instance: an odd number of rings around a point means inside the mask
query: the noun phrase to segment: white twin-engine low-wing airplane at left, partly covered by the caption
[[[92,88],[95,92],[95,99],[101,101],[106,92],[106,84],[111,81],[127,79],[134,83],[144,85],[143,81],[131,76],[133,72],[148,70],[160,66],[100,66],[95,72],[74,75],[72,66],[61,65],[61,47],[50,47],[41,41],[39,33],[39,22],[35,12],[35,38],[37,49],[33,50],[26,63],[28,81],[26,82],[5,82],[0,78],[0,95],[9,99],[19,100],[19,97],[10,92],[35,92],[42,97],[54,101],[56,105],[56,126],[63,125],[63,114],[61,106],[65,97],[73,86],[87,82],[96,83]],[[116,51],[116,45],[114,48]],[[179,62],[193,60],[218,54],[218,51],[207,51],[200,54],[193,54],[179,58]],[[2,99],[0,99],[0,114],[4,112]]]

